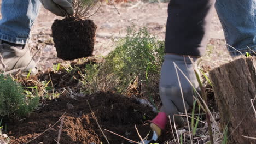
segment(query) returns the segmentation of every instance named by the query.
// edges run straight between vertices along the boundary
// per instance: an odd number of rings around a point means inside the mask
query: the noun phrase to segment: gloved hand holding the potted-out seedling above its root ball
[[[72,0],[40,0],[45,9],[57,16],[72,15],[74,13]]]

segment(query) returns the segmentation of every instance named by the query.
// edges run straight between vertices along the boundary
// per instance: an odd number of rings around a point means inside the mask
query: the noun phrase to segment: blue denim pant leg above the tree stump
[[[226,43],[245,55],[256,51],[256,0],[217,0],[215,4]],[[241,55],[228,47],[231,56]]]

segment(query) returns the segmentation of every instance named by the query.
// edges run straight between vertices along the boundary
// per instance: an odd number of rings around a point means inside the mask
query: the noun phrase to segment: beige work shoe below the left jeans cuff
[[[22,76],[36,75],[38,69],[32,60],[28,46],[0,41],[0,72],[21,73]]]

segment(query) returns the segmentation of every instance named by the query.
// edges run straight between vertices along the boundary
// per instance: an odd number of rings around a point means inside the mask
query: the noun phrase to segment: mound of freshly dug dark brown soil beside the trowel
[[[30,117],[18,123],[9,124],[11,143],[26,143],[55,124],[65,113],[60,143],[107,143],[91,110],[110,143],[129,143],[104,129],[113,131],[128,139],[139,141],[135,124],[142,137],[150,131],[146,120],[153,119],[152,108],[139,104],[136,99],[113,93],[96,93],[85,97],[59,98],[48,101]],[[60,122],[30,143],[56,143]],[[151,132],[150,132],[151,133]]]

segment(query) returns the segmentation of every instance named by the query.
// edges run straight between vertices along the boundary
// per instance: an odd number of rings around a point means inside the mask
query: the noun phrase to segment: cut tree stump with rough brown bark
[[[228,143],[256,143],[256,57],[244,57],[210,71],[221,127],[228,126]],[[254,107],[256,101],[253,101]],[[250,139],[249,137],[254,137]]]

